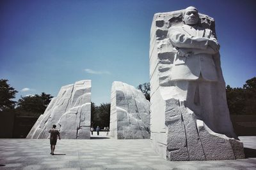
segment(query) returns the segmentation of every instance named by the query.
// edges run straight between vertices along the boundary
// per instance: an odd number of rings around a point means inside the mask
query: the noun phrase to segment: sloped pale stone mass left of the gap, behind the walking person
[[[53,124],[57,125],[63,139],[90,139],[91,80],[61,87],[27,138],[48,138]]]

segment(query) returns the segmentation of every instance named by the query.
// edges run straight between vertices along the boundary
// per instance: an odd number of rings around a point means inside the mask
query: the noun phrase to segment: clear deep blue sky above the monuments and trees
[[[0,1],[0,78],[20,96],[92,80],[92,102],[109,103],[111,84],[149,81],[154,13],[196,6],[216,20],[226,84],[256,76],[256,1]]]

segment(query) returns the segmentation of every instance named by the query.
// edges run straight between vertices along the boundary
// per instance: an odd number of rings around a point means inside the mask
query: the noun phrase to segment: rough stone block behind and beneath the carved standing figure
[[[159,155],[168,160],[244,158],[243,143],[234,139],[236,134],[233,132],[229,117],[220,54],[214,56],[219,80],[209,87],[216,95],[216,101],[212,104],[215,114],[211,122],[198,120],[196,114],[184,104],[186,88],[177,87],[177,82],[172,81],[176,50],[167,38],[167,34],[168,29],[173,25],[182,25],[183,13],[183,10],[156,13],[152,22],[150,32],[152,146]],[[200,13],[199,15],[200,26],[215,32],[213,18]],[[183,85],[186,85],[186,82]]]

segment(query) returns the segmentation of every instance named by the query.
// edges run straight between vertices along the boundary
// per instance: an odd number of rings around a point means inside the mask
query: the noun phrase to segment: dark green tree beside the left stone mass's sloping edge
[[[17,111],[20,115],[42,115],[51,101],[51,94],[21,97],[17,103]]]

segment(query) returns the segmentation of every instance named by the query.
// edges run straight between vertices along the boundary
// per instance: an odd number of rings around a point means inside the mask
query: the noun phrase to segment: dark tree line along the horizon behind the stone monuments
[[[150,101],[150,83],[138,85],[137,89],[141,90],[145,98]],[[13,101],[17,94],[8,80],[0,80],[0,112],[15,111],[17,115],[39,117],[42,115],[50,103],[51,94],[42,94],[35,96],[24,96],[16,102]],[[230,114],[232,115],[256,115],[256,77],[247,80],[243,87],[232,88],[230,85],[226,87],[227,103]],[[109,126],[110,103],[101,103],[96,106],[92,103],[91,120],[92,125],[100,127]]]

